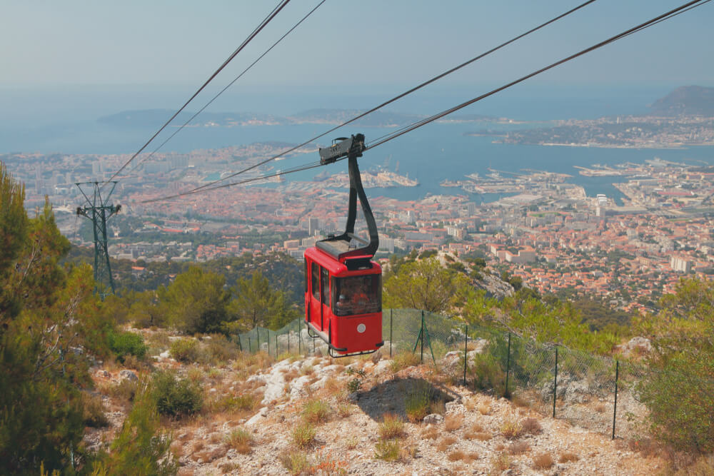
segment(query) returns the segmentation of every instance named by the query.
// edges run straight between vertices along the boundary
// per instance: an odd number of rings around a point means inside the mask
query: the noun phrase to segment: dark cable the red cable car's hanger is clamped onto
[[[584,54],[590,53],[591,51],[595,51],[596,49],[600,49],[601,47],[603,47],[603,46],[605,46],[605,45],[608,45],[608,44],[610,44],[610,43],[613,43],[614,41],[617,41],[618,39],[623,39],[623,38],[625,38],[625,36],[630,36],[630,34],[633,34],[633,33],[636,33],[636,32],[638,32],[638,31],[642,31],[642,30],[644,30],[644,29],[647,29],[647,28],[649,28],[650,26],[654,26],[655,24],[658,24],[658,23],[660,23],[660,22],[662,22],[662,21],[665,21],[665,20],[668,20],[668,19],[670,19],[670,18],[673,18],[674,16],[678,16],[679,14],[682,14],[682,13],[684,13],[685,11],[689,11],[690,9],[693,9],[693,8],[695,8],[695,7],[697,7],[697,6],[701,6],[701,5],[706,4],[706,3],[710,2],[710,1],[711,1],[711,0],[692,0],[692,1],[688,1],[686,4],[683,4],[683,5],[681,5],[681,6],[678,6],[677,8],[672,9],[672,10],[666,12],[665,14],[661,14],[661,15],[659,15],[659,16],[655,16],[655,18],[653,18],[653,19],[650,19],[650,20],[648,20],[648,21],[645,21],[645,22],[642,23],[642,24],[639,24],[638,26],[634,26],[634,27],[631,28],[631,29],[628,29],[628,30],[626,30],[626,31],[623,31],[623,32],[620,33],[620,34],[617,34],[617,35],[615,35],[615,36],[611,36],[609,39],[606,39],[605,41],[600,41],[600,43],[598,43],[598,44],[595,44],[595,45],[593,45],[593,46],[590,46],[589,48],[586,48],[586,49],[583,49],[583,50],[581,50],[581,51],[578,51],[578,53],[575,53],[575,54],[573,54],[573,55],[567,56],[566,58],[561,59],[561,60],[559,60],[559,61],[556,61],[556,62],[553,63],[553,64],[550,64],[550,65],[548,65],[548,66],[545,66],[544,68],[538,69],[537,71],[533,71],[531,74],[527,74],[526,76],[523,76],[523,77],[521,77],[520,79],[516,79],[516,81],[511,81],[511,83],[507,83],[507,84],[505,84],[505,85],[503,85],[503,86],[501,86],[501,87],[499,87],[499,88],[493,89],[492,91],[489,91],[488,93],[484,93],[484,94],[482,94],[481,96],[477,96],[476,98],[473,98],[473,99],[471,99],[471,100],[469,100],[469,101],[466,101],[466,102],[464,102],[464,103],[461,103],[461,104],[459,104],[458,106],[454,106],[454,107],[452,107],[452,108],[448,108],[448,109],[446,109],[446,111],[442,111],[441,113],[436,113],[436,114],[434,114],[433,116],[430,116],[430,117],[425,118],[425,119],[423,119],[423,120],[421,120],[421,121],[417,121],[417,122],[415,122],[415,123],[412,123],[410,126],[403,127],[403,128],[401,128],[401,129],[399,129],[398,131],[394,131],[393,133],[390,133],[390,134],[388,134],[388,135],[386,135],[386,136],[382,136],[381,138],[378,138],[376,141],[373,141],[372,143],[370,143],[370,144],[368,145],[368,147],[367,147],[365,150],[368,150],[368,149],[371,149],[371,148],[375,148],[375,147],[377,147],[377,146],[381,146],[383,143],[386,143],[386,142],[388,142],[388,141],[391,141],[391,140],[394,139],[394,138],[397,138],[397,137],[399,137],[399,136],[402,136],[403,134],[406,134],[406,133],[411,132],[411,131],[413,131],[413,130],[415,130],[415,129],[417,129],[417,128],[420,128],[421,126],[425,126],[426,124],[431,123],[431,122],[433,122],[433,121],[436,121],[437,119],[442,118],[443,116],[447,116],[448,114],[453,113],[453,112],[455,112],[455,111],[458,111],[458,110],[461,109],[461,108],[465,108],[466,106],[470,106],[470,105],[473,104],[473,103],[476,103],[476,102],[478,102],[478,101],[481,101],[482,99],[487,98],[488,96],[493,96],[493,94],[496,94],[496,93],[498,93],[498,92],[500,92],[500,91],[503,91],[504,89],[510,88],[511,86],[514,86],[514,85],[516,85],[516,84],[518,84],[518,83],[521,83],[521,82],[523,82],[523,81],[526,81],[526,79],[530,79],[530,78],[532,78],[533,76],[537,76],[538,74],[541,74],[541,73],[543,73],[543,72],[545,72],[545,71],[548,71],[548,70],[550,70],[550,69],[553,69],[553,68],[555,68],[555,66],[559,66],[560,64],[567,63],[568,61],[571,61],[571,60],[573,60],[573,59],[575,59],[575,58],[578,58],[579,56],[583,56]],[[306,144],[306,143],[303,143],[303,144],[301,144],[301,146],[304,146],[305,144]],[[300,147],[300,146],[298,146],[298,147]],[[296,147],[296,148],[298,148],[298,147]],[[295,150],[295,148],[293,148],[293,149],[291,149],[291,150]],[[287,153],[287,152],[289,152],[289,151],[286,151],[286,153]],[[279,156],[278,156],[278,157],[279,157]],[[261,162],[261,163],[258,163],[256,166],[262,165],[263,163],[266,163],[266,162],[269,161],[269,160],[271,160],[271,159],[268,159],[268,160],[266,160],[266,161],[263,161],[263,162]],[[256,166],[252,166],[251,168],[255,168]],[[218,188],[226,188],[226,187],[231,187],[231,186],[234,186],[234,185],[240,185],[240,184],[242,184],[242,183],[248,183],[248,182],[252,182],[252,181],[262,180],[262,179],[264,179],[264,178],[271,178],[271,177],[275,177],[275,176],[282,176],[282,175],[286,175],[286,174],[288,174],[288,173],[293,173],[293,172],[297,172],[297,171],[307,170],[308,168],[316,168],[316,167],[319,167],[319,166],[321,166],[321,164],[320,164],[320,163],[317,163],[316,165],[309,165],[309,166],[303,166],[303,167],[298,167],[298,168],[294,168],[294,169],[288,169],[288,170],[286,170],[286,171],[281,171],[281,172],[273,173],[273,174],[266,175],[266,176],[260,176],[260,177],[255,177],[255,178],[249,178],[249,179],[246,179],[245,181],[238,181],[238,182],[233,182],[233,183],[226,183],[226,184],[223,184],[223,185],[221,185],[221,186],[215,186],[215,187],[210,187],[210,188],[208,188],[209,186],[214,185],[215,183],[218,182],[218,181],[214,181],[214,182],[212,182],[212,183],[206,184],[205,186],[201,186],[201,187],[198,187],[198,188],[194,188],[194,189],[191,190],[191,191],[187,191],[187,192],[184,192],[184,193],[177,193],[176,195],[172,195],[172,196],[166,196],[166,197],[162,197],[162,198],[154,198],[154,199],[147,200],[147,201],[141,201],[140,203],[153,203],[153,202],[158,202],[158,201],[169,200],[169,199],[171,199],[171,198],[180,198],[180,197],[183,197],[183,196],[193,195],[194,193],[203,193],[203,192],[213,191],[213,190],[216,190],[216,189],[218,189]],[[250,170],[251,168],[247,168],[246,171]],[[235,174],[233,174],[233,175],[231,175],[231,176],[227,176],[226,178],[230,178],[230,177],[236,176],[236,175],[238,175],[238,174],[235,173]],[[225,178],[224,178],[224,179],[225,179]],[[223,179],[222,179],[222,180],[223,180]]]

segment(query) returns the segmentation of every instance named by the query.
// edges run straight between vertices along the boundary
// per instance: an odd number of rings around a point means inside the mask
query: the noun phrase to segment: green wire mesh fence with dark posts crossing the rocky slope
[[[573,425],[620,437],[635,435],[646,415],[638,382],[647,371],[633,362],[593,355],[513,333],[466,325],[416,309],[384,309],[383,355],[416,353],[452,383],[509,397]],[[327,355],[328,346],[311,338],[304,320],[279,330],[256,327],[236,335],[243,352]]]

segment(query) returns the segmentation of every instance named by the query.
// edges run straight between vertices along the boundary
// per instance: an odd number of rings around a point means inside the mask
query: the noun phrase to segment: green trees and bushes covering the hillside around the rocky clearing
[[[164,275],[153,288],[125,287],[101,301],[92,292],[91,267],[66,259],[70,245],[49,203],[28,216],[23,186],[1,163],[0,243],[1,474],[174,474],[171,435],[162,418],[196,415],[206,407],[247,413],[255,407],[253,396],[206,399],[190,370],[186,376],[152,376],[147,370],[139,381],[122,380],[107,390],[126,400],[130,410],[111,451],[92,452],[83,441],[85,425],[106,425],[106,417],[90,395],[90,364],[115,360],[150,369],[151,343],[121,329],[127,323],[185,335],[213,333],[200,344],[186,336],[169,344],[164,335],[171,355],[182,362],[236,360],[239,351],[224,336],[256,325],[278,329],[300,312],[280,280],[263,273],[276,269],[269,257],[181,265],[174,279]],[[291,270],[289,260],[277,261],[299,295],[301,268]],[[236,268],[226,263],[240,263],[240,272],[231,275]],[[161,266],[154,272],[163,272]],[[496,298],[476,286],[489,273],[479,258],[464,262],[411,253],[391,259],[386,268],[385,307],[428,310],[538,343],[603,354],[613,353],[630,335],[647,336],[654,350],[644,357],[648,372],[638,395],[650,410],[651,435],[691,454],[714,451],[714,283],[682,280],[673,295],[660,300],[659,313],[630,322],[603,303],[543,297],[508,276],[513,295]],[[253,365],[248,360],[244,364]],[[480,364],[473,371],[483,368],[483,375],[493,377],[482,379],[483,386],[501,385],[498,372],[488,370],[493,365]],[[310,431],[306,427],[306,435]],[[389,432],[385,445],[398,438],[398,430]],[[380,454],[388,455],[387,450]]]

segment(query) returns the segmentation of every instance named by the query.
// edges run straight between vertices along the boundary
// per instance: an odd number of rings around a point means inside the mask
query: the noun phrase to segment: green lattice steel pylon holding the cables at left
[[[101,188],[105,183],[111,183],[111,188],[102,198]],[[84,207],[77,207],[77,215],[89,218],[94,231],[94,292],[104,300],[108,292],[114,293],[114,278],[111,275],[109,251],[106,249],[106,221],[121,209],[121,205],[109,204],[109,196],[114,191],[116,182],[82,182],[75,185],[87,201]],[[82,186],[93,186],[93,193],[85,193]]]

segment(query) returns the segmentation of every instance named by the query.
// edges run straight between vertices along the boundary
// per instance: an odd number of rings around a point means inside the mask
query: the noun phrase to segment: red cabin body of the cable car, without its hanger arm
[[[370,258],[341,262],[317,247],[305,251],[308,329],[335,357],[371,353],[384,344],[382,268]]]

